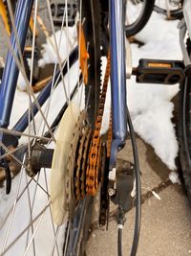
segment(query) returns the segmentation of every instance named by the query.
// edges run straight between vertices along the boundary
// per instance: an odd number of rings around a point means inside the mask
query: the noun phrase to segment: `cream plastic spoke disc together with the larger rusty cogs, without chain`
[[[51,199],[57,225],[65,221],[68,213],[73,217],[79,199],[84,197],[91,134],[87,112],[69,105],[60,122],[53,152]]]

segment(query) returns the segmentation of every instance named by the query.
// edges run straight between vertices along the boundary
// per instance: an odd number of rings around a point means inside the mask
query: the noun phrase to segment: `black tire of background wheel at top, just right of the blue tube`
[[[128,1],[129,0],[126,0],[126,4]],[[138,34],[138,32],[140,32],[147,24],[154,10],[155,0],[143,0],[140,2],[142,2],[143,5],[141,12],[138,15],[138,18],[132,24],[125,26],[125,32],[127,37]]]

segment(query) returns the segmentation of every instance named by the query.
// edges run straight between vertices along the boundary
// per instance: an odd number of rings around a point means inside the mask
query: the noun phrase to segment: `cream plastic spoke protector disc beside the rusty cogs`
[[[65,111],[60,122],[56,145],[53,152],[53,164],[51,173],[51,200],[53,221],[60,225],[67,216],[67,168],[69,164],[70,144],[74,136],[74,127],[79,116],[79,109],[71,104]]]

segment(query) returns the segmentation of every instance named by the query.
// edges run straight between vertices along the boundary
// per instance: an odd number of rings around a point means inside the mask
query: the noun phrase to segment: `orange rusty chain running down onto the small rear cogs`
[[[89,154],[89,164],[86,173],[86,193],[88,195],[95,196],[98,188],[98,169],[100,162],[100,149],[101,149],[101,139],[100,139],[100,129],[102,124],[102,117],[104,111],[104,105],[106,100],[107,87],[110,77],[110,53],[107,58],[107,66],[105,71],[105,77],[103,81],[102,91],[99,97],[99,107],[98,114],[96,117],[96,128],[93,135],[92,146]]]

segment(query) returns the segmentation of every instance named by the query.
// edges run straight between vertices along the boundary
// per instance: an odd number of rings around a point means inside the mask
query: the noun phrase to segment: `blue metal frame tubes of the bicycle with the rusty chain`
[[[0,128],[9,128],[11,118],[11,108],[18,79],[18,66],[16,58],[23,53],[27,31],[32,15],[33,0],[19,0],[15,10],[15,30],[11,32],[11,49],[8,52],[6,65],[3,73],[0,89]],[[123,33],[123,2],[109,0],[110,35],[111,35],[111,83],[112,83],[112,108],[113,108],[113,142],[111,151],[110,170],[116,166],[117,151],[125,144],[127,137],[127,112],[126,112],[126,78],[125,78],[125,45]],[[15,35],[15,32],[17,32]],[[19,46],[19,47],[18,47]],[[19,49],[20,48],[20,49]],[[77,58],[77,49],[70,55],[70,65],[74,64]],[[63,75],[67,72],[67,67],[63,68]],[[57,72],[55,81],[59,78]],[[50,81],[44,90],[37,97],[38,104],[42,106],[50,96],[52,82]],[[38,108],[33,103],[32,115],[38,112]],[[24,131],[29,125],[29,112],[26,111],[13,127],[16,131]]]

